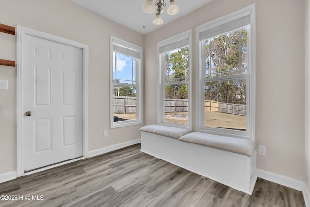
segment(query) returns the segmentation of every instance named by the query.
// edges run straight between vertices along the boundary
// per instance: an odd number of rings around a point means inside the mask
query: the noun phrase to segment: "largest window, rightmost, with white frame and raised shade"
[[[199,131],[254,139],[254,6],[197,28]]]

